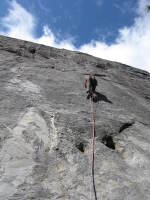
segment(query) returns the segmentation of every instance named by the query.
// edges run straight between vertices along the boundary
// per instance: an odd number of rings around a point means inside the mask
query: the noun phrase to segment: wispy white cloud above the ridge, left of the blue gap
[[[28,40],[57,48],[75,50],[71,38],[57,42],[57,38],[47,25],[43,27],[43,35],[37,38],[34,33],[36,28],[35,17],[15,0],[11,1],[8,15],[1,19],[1,24],[3,28],[5,28],[5,31],[3,31],[2,28],[0,29],[1,35]]]

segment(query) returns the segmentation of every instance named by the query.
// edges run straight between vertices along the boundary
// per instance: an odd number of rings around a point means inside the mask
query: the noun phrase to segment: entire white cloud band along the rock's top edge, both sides
[[[15,0],[11,1],[8,15],[1,20],[3,27],[7,30],[0,30],[0,34],[57,48],[79,50],[150,72],[150,13],[146,12],[148,4],[150,0],[138,0],[138,17],[135,18],[134,24],[131,27],[120,29],[116,41],[111,45],[103,41],[92,40],[76,49],[70,38],[58,41],[47,25],[43,27],[43,35],[37,38],[34,34],[36,19]]]

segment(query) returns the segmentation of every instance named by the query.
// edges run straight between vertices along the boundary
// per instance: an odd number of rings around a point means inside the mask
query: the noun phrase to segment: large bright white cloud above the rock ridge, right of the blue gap
[[[150,71],[149,39],[150,15],[146,14],[144,17],[138,17],[134,26],[121,29],[114,44],[92,41],[83,45],[80,50]]]

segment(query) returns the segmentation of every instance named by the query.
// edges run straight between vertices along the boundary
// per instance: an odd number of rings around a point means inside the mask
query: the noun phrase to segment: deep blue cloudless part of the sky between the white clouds
[[[9,1],[0,2],[0,17]],[[47,24],[58,39],[72,37],[79,47],[91,40],[113,43],[118,29],[134,22],[137,0],[18,0],[37,19],[36,36]]]

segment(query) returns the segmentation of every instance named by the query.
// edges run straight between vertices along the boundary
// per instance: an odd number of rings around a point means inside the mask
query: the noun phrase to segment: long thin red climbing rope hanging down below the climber
[[[95,158],[95,111],[94,111],[94,96],[92,92],[92,98],[91,98],[91,104],[92,104],[92,183],[93,183],[93,192],[95,200],[97,200],[97,194],[96,194],[96,188],[95,188],[95,179],[94,179],[94,158]]]

